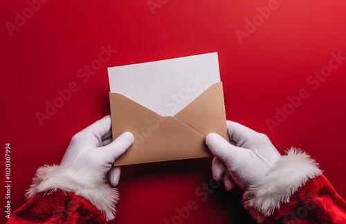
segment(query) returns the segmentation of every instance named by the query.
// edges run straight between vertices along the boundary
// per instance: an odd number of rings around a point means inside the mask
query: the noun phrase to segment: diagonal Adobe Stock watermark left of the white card
[[[102,45],[100,48],[101,51],[97,58],[93,59],[89,64],[84,64],[82,68],[78,69],[76,73],[78,80],[71,81],[66,88],[57,89],[57,91],[55,91],[56,97],[54,97],[52,100],[46,100],[45,109],[35,113],[36,118],[41,126],[44,125],[46,120],[50,120],[52,116],[55,115],[55,113],[57,113],[57,111],[66,104],[66,102],[71,100],[73,93],[80,91],[81,84],[79,82],[82,82],[82,84],[88,82],[91,77],[102,68],[102,65],[105,62],[108,62],[109,59],[111,59],[111,57],[113,57],[113,55],[117,52],[117,50],[111,49],[110,44],[107,47]]]

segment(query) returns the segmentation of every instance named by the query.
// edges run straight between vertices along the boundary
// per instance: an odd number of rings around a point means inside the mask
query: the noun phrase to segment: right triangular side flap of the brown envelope
[[[228,140],[222,82],[210,86],[174,118],[204,136],[214,132]]]

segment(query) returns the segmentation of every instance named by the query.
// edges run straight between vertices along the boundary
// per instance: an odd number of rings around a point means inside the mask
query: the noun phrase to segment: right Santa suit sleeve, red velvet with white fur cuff
[[[346,223],[346,203],[318,164],[291,149],[243,196],[258,223]]]

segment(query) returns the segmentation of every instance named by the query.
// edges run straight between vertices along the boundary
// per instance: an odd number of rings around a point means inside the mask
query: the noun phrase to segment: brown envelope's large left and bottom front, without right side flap
[[[115,165],[210,156],[205,136],[183,122],[162,117],[119,93],[109,93],[109,98],[113,139],[124,131],[135,137]]]

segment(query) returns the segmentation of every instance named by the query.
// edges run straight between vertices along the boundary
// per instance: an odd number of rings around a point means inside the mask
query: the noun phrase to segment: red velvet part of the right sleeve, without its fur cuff
[[[346,203],[320,175],[308,180],[264,223],[346,223]]]

